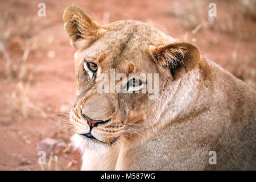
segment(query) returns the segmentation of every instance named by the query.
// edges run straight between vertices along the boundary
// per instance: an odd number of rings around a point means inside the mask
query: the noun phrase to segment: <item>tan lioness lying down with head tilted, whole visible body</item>
[[[101,26],[76,5],[63,18],[76,48],[70,121],[82,170],[256,169],[253,88],[146,23]],[[111,69],[158,74],[159,96],[148,99],[137,77],[125,82],[132,92],[99,93]]]

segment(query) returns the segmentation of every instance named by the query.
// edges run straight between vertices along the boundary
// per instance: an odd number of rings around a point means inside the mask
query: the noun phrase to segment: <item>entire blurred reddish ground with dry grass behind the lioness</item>
[[[40,2],[46,16],[38,16]],[[209,18],[209,3],[217,16]],[[0,0],[0,169],[76,170],[68,110],[75,101],[75,49],[63,28],[65,7],[76,4],[108,24],[142,20],[179,40],[256,88],[256,1]],[[47,153],[38,164],[38,151]]]

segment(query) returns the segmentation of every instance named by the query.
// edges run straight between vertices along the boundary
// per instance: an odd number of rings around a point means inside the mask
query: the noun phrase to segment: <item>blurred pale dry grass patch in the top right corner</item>
[[[246,18],[255,21],[256,1],[216,1],[217,17],[221,18],[211,18],[208,16],[208,5],[211,2],[200,0],[174,2],[171,9],[167,10],[167,14],[182,19],[181,23],[183,26],[191,30],[200,25],[205,30],[228,33],[237,31]],[[227,3],[228,9],[221,10],[221,3]]]

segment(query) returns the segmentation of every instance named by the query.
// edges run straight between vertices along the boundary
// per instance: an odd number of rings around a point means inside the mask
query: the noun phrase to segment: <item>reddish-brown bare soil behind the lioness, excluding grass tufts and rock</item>
[[[250,18],[242,19],[240,26],[231,31],[201,28],[193,34],[192,30],[195,27],[184,26],[181,23],[184,20],[182,17],[168,13],[174,6],[174,1],[170,0],[44,0],[46,17],[38,17],[40,2],[42,1],[0,1],[1,11],[10,15],[8,26],[13,27],[14,31],[19,31],[16,22],[19,16],[34,18],[34,26],[38,27],[38,30],[33,32],[31,38],[51,40],[42,50],[38,49],[28,55],[24,65],[29,76],[22,79],[7,73],[6,59],[0,52],[1,170],[40,170],[42,167],[38,164],[39,156],[36,151],[36,145],[40,140],[54,138],[69,143],[69,136],[72,133],[68,133],[68,116],[59,113],[68,114],[68,109],[75,101],[75,50],[69,44],[62,19],[65,7],[72,3],[82,7],[93,19],[102,24],[122,19],[137,19],[154,24],[174,38],[186,39],[197,44],[205,57],[249,82],[251,86],[255,85],[256,23]],[[193,2],[181,1],[180,6],[186,3]],[[217,1],[216,4],[216,19],[219,22],[224,21],[230,7],[235,6],[232,5],[232,1]],[[208,13],[208,6],[204,7],[203,11]],[[1,30],[5,30],[5,24],[0,26]],[[29,35],[17,35],[3,41],[11,60],[22,57],[26,39],[30,39]],[[235,60],[234,55],[237,55]],[[28,84],[27,90],[19,89],[18,83]],[[21,108],[27,111],[23,110],[22,113]],[[75,170],[81,166],[80,154],[77,151],[60,151],[56,156],[57,163],[52,162],[51,169]],[[43,169],[49,168],[44,166]]]

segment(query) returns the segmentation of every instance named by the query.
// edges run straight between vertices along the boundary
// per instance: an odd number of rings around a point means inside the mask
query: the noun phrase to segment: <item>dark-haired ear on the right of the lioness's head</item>
[[[192,71],[200,61],[197,46],[188,42],[175,42],[164,46],[150,46],[150,55],[165,77],[174,80]]]

